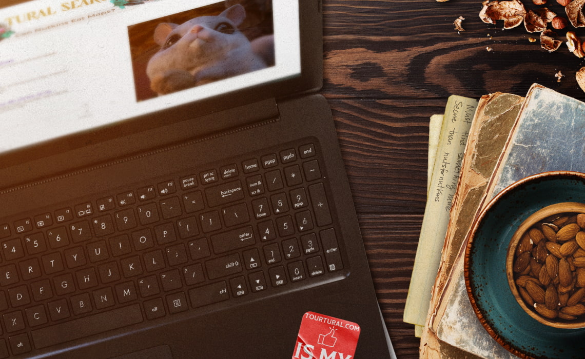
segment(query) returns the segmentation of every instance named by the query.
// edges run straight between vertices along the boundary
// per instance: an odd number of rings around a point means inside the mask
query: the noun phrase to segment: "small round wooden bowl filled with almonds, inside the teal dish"
[[[528,216],[510,240],[506,274],[528,315],[585,327],[585,203],[554,203]]]

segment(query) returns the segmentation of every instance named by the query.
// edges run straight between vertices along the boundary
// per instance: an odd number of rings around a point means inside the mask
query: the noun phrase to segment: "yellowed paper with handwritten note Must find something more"
[[[417,255],[412,270],[404,309],[404,322],[424,326],[431,300],[431,288],[441,259],[441,248],[449,223],[451,207],[469,127],[477,106],[477,100],[462,96],[450,96],[439,146],[436,153],[431,190],[418,241]]]

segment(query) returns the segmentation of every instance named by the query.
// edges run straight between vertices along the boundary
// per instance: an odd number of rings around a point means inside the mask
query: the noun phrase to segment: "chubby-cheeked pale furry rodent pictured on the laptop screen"
[[[246,18],[242,5],[217,16],[199,16],[181,25],[160,23],[154,41],[161,46],[146,67],[150,87],[168,94],[222,80],[274,63],[274,36],[252,43],[238,26]]]

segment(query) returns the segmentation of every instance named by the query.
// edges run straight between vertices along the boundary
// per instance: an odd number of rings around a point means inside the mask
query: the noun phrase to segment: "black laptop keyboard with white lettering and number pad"
[[[322,162],[307,140],[0,219],[0,358],[340,277]]]

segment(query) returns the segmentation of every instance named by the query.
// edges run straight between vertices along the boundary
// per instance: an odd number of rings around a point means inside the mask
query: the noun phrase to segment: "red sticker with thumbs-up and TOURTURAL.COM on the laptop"
[[[307,312],[302,317],[292,359],[351,359],[360,326],[347,320]]]

